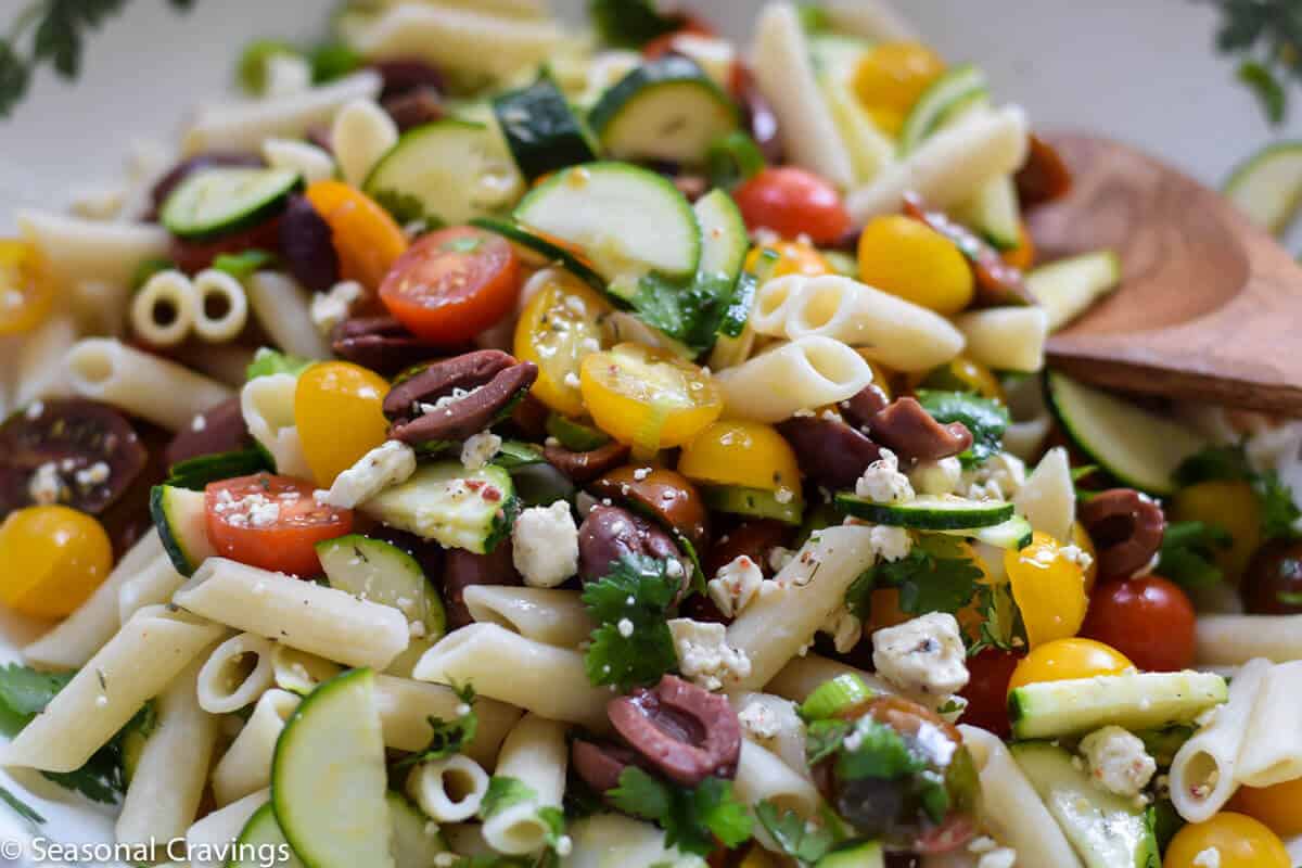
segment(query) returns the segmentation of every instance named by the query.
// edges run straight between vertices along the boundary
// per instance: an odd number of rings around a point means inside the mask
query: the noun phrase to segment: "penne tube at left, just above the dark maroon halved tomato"
[[[232,396],[215,380],[174,362],[104,337],[85,338],[68,353],[73,390],[104,401],[169,431]]]

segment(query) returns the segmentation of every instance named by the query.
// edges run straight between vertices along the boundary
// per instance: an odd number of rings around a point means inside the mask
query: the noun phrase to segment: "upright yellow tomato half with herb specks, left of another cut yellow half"
[[[516,321],[516,358],[538,366],[533,394],[566,416],[582,416],[578,370],[583,357],[605,345],[603,318],[609,302],[569,272],[553,269]]]

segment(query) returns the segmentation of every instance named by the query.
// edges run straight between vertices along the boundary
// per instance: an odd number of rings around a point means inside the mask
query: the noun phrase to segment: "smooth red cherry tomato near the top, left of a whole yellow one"
[[[841,194],[812,172],[796,167],[764,169],[733,191],[747,229],[772,229],[783,238],[802,233],[831,245],[850,228]]]

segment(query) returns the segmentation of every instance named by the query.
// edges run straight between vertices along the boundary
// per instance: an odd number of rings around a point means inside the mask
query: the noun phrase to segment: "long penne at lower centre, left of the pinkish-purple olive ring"
[[[414,675],[443,685],[470,682],[483,696],[551,720],[608,727],[605,703],[611,694],[589,683],[583,655],[518,636],[495,623],[449,632],[424,652]]]

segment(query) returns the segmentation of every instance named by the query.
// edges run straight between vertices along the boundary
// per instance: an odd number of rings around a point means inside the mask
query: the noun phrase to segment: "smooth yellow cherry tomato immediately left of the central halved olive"
[[[381,407],[388,390],[379,373],[349,362],[322,362],[298,377],[294,424],[318,485],[329,488],[336,476],[384,442],[389,422]]]

